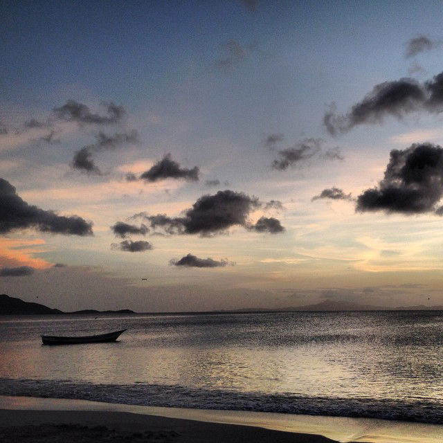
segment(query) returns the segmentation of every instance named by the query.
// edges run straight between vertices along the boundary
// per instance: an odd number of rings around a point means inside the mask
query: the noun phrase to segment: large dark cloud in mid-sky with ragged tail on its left
[[[257,197],[250,197],[244,192],[232,190],[219,191],[215,195],[200,197],[192,208],[185,211],[183,217],[168,217],[165,214],[147,215],[138,213],[131,218],[141,217],[150,222],[152,229],[162,228],[165,233],[214,235],[226,231],[231,226],[243,226],[251,229],[248,216],[262,206]],[[276,219],[266,219],[276,220]],[[278,220],[277,220],[278,221]],[[280,222],[279,222],[280,223]],[[264,230],[271,232],[275,221],[263,221]],[[252,226],[252,228],[254,228]],[[280,226],[280,228],[282,228]],[[279,231],[281,232],[281,231]]]

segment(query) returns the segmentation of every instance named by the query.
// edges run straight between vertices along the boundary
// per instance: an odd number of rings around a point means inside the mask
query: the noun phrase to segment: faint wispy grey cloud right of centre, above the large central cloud
[[[329,150],[323,150],[321,145],[323,140],[320,138],[305,138],[292,147],[277,152],[279,158],[272,163],[272,168],[276,170],[287,170],[290,166],[296,166],[304,163],[314,157],[326,160],[343,160],[344,157],[338,150],[338,147]]]

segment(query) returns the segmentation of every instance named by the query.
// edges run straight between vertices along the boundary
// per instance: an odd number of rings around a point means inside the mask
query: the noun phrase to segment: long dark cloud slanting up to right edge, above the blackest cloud
[[[336,135],[357,125],[381,123],[385,116],[401,119],[413,111],[443,111],[443,72],[423,84],[412,78],[377,84],[345,115],[337,115],[332,105],[323,116],[323,124],[329,134]]]

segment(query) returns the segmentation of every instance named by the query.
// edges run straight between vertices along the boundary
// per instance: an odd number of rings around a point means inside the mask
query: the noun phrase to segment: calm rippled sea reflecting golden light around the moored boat
[[[0,395],[443,424],[440,311],[21,317],[0,334]]]

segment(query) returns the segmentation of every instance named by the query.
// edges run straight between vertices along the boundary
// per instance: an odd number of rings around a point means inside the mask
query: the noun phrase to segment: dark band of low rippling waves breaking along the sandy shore
[[[308,397],[291,393],[235,392],[195,389],[179,385],[147,383],[96,384],[71,380],[0,378],[0,395],[52,397],[105,401],[107,403],[172,408],[251,410],[273,413],[365,417],[407,422],[443,424],[443,401],[439,399],[393,399]]]

